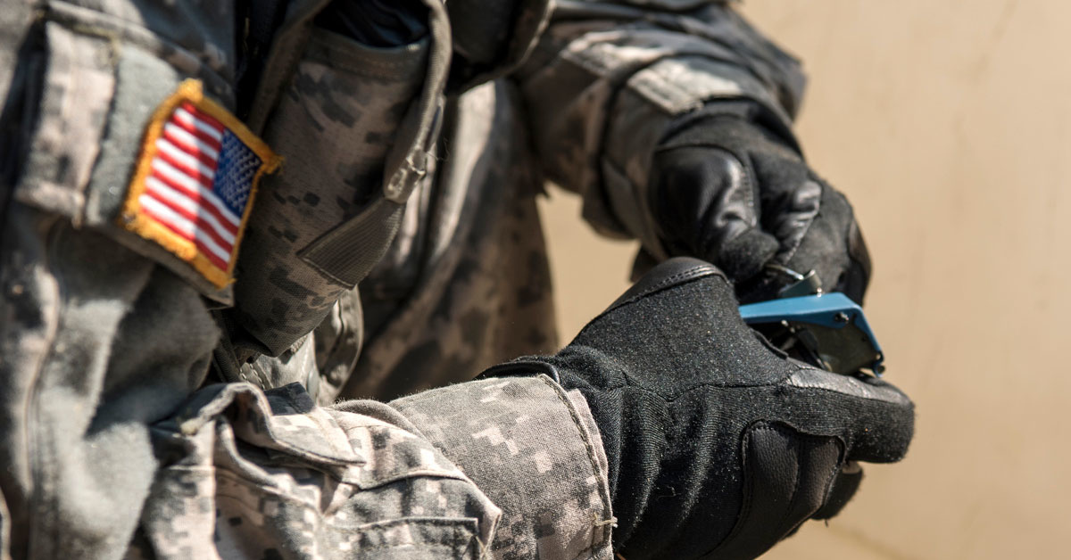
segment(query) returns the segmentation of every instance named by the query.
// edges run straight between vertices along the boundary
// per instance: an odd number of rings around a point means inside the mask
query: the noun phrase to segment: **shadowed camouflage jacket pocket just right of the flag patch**
[[[375,48],[313,32],[263,132],[285,163],[260,185],[238,263],[236,316],[261,345],[252,349],[277,355],[289,348],[357,284],[346,259],[375,258],[390,244],[399,212],[382,203],[383,170],[420,99],[428,49],[426,39]],[[320,252],[320,260],[299,255],[355,222],[368,234],[343,240],[345,251]],[[344,261],[344,273],[317,266],[330,259]]]

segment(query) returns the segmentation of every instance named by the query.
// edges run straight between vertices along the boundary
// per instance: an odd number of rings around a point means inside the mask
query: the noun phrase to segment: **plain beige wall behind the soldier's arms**
[[[798,132],[875,260],[866,313],[918,404],[907,459],[765,558],[1071,558],[1071,2],[751,0],[805,61]],[[563,340],[632,245],[545,208]]]

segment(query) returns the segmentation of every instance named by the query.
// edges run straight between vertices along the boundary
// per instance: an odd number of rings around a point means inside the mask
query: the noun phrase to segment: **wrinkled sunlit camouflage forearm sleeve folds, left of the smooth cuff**
[[[401,424],[401,425],[398,425]],[[480,558],[500,510],[396,411],[210,385],[153,427],[156,558]]]

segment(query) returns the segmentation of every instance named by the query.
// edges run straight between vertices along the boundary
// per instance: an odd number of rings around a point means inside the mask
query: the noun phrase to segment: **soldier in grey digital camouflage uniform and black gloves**
[[[549,4],[0,12],[3,558],[753,558],[903,456],[903,393],[736,312],[869,278],[796,61],[724,2]],[[718,268],[555,352],[544,180]]]

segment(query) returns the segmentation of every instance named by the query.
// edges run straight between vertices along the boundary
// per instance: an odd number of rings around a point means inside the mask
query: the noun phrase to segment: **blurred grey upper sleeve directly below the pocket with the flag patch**
[[[218,330],[100,232],[12,202],[0,240],[0,558],[117,558],[156,468],[149,425],[203,381]]]

